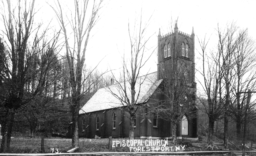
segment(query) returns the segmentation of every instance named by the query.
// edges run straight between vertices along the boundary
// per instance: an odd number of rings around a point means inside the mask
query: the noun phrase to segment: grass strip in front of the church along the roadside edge
[[[112,141],[127,140],[123,138],[112,139]],[[58,149],[61,153],[66,153],[72,149],[71,139],[65,138],[45,138],[45,153],[52,153],[52,149]],[[145,141],[145,140],[144,140]],[[79,149],[77,153],[87,152],[130,152],[129,147],[113,147],[111,150],[108,149],[109,139],[84,139],[79,138]],[[189,143],[180,144],[185,145],[185,151],[208,151],[207,149],[198,149],[191,146]],[[168,146],[173,146],[171,140],[168,140]],[[29,138],[29,137],[14,137],[11,139],[10,151],[8,153],[40,153],[41,152],[41,138]],[[133,151],[132,151],[133,152]],[[55,152],[54,152],[55,153]],[[221,154],[219,154],[221,155]]]

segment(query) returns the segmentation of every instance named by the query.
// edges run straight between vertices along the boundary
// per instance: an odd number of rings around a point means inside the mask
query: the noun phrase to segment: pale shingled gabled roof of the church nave
[[[162,80],[157,81],[157,72],[138,77],[135,85],[135,100],[138,97],[138,93],[140,93],[137,103],[146,103],[161,82]],[[127,88],[127,95],[129,99],[131,99],[131,85],[128,81],[126,81],[125,85]],[[124,82],[99,89],[80,109],[79,114],[122,107],[123,104],[121,101],[113,95],[116,94],[119,97],[124,97],[124,93],[120,86],[124,87]]]

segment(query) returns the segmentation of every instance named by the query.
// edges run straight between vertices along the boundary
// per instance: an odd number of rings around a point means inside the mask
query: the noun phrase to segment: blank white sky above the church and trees
[[[48,1],[53,3],[52,0]],[[46,23],[52,19],[51,25],[59,28],[52,8],[45,1],[36,1],[36,3],[37,7],[41,7],[37,18]],[[61,3],[67,4],[72,9],[72,0],[67,2],[61,0]],[[144,21],[152,15],[147,35],[153,36],[148,48],[157,46],[159,28],[162,35],[170,32],[171,20],[177,18],[180,31],[191,34],[194,27],[195,35],[199,39],[206,33],[208,36],[216,33],[214,29],[217,28],[218,23],[224,27],[226,23],[232,21],[236,21],[242,28],[248,28],[249,34],[254,39],[256,35],[255,0],[109,0],[107,3],[102,8],[101,20],[91,33],[94,36],[90,39],[86,52],[86,65],[91,67],[95,67],[106,56],[98,67],[102,71],[107,67],[108,69],[121,67],[122,53],[129,52],[128,20],[134,21],[141,9]],[[195,41],[196,57],[200,56],[197,52],[197,49],[200,49],[198,46],[198,42]],[[198,66],[200,62],[196,59],[196,67]],[[148,71],[157,71],[156,52],[142,74]],[[200,75],[196,74],[196,76]]]

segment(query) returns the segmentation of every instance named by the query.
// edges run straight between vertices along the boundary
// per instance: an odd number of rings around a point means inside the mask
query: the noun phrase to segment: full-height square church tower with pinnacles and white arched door
[[[195,34],[178,30],[177,21],[172,32],[158,33],[158,80],[163,79],[166,103],[177,105],[181,112],[177,124],[177,139],[197,137],[197,109],[195,83]],[[169,92],[169,93],[168,93]],[[174,93],[175,92],[175,93]],[[172,94],[173,99],[167,97]],[[176,97],[175,97],[176,96]],[[171,100],[170,100],[171,99]],[[174,112],[175,113],[175,112]]]

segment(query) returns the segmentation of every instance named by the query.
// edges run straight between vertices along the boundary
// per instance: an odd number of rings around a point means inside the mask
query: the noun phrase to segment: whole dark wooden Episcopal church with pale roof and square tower
[[[184,96],[179,104],[181,110],[184,111],[187,108],[189,111],[182,115],[182,120],[177,124],[177,139],[198,139],[197,107],[195,104],[194,45],[195,35],[193,29],[191,35],[180,32],[178,31],[177,22],[174,32],[162,36],[159,29],[158,71],[139,77],[139,79],[144,80],[144,83],[140,86],[138,101],[143,105],[146,104],[147,107],[141,107],[136,112],[134,137],[157,139],[172,136],[172,123],[170,120],[160,118],[157,113],[147,112],[156,104],[166,101],[166,96],[163,93],[159,93],[159,90],[165,91],[167,89],[165,88],[165,81],[167,81],[167,79],[164,78],[161,71],[167,71],[168,68],[173,67],[173,58],[176,57],[176,60],[183,62],[185,66],[187,65],[187,67],[189,67],[187,72],[183,73],[188,79],[186,79],[182,85],[186,86],[190,91],[189,96]],[[176,50],[172,48],[173,46],[176,46]],[[182,65],[178,63],[177,66],[180,67]],[[178,79],[178,81],[182,80]],[[136,87],[136,85],[135,88],[138,89],[139,87]],[[120,101],[109,92],[109,89],[111,89],[112,92],[118,93],[117,84],[101,88],[91,97],[82,109],[80,109],[78,121],[79,137],[129,137],[129,118],[127,117],[129,114],[119,109],[122,105],[120,105]],[[136,91],[136,93],[138,92],[139,90]],[[70,125],[69,127],[72,126]],[[69,131],[71,131],[71,128]]]

